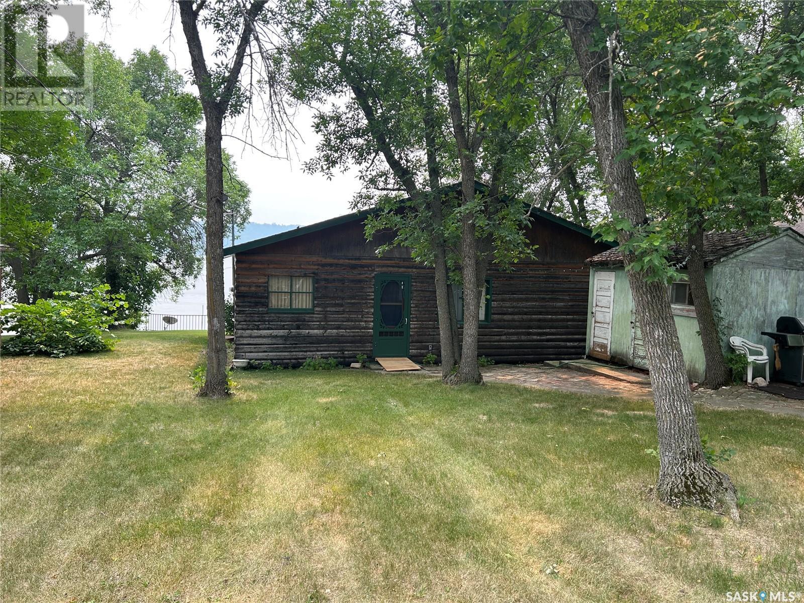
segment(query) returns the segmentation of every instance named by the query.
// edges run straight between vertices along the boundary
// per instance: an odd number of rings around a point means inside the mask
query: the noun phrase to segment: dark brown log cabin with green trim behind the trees
[[[356,212],[224,249],[234,256],[235,358],[298,366],[313,357],[439,356],[433,269],[409,248],[377,248]],[[589,256],[610,244],[548,211],[531,211],[527,238],[538,259],[490,265],[478,354],[538,363],[585,354]],[[462,314],[456,291],[457,315]]]

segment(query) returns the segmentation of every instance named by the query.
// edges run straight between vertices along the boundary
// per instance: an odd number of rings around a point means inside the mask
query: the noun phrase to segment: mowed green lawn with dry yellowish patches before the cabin
[[[241,371],[203,337],[3,358],[2,601],[725,601],[804,591],[804,420],[702,410],[739,525],[650,497],[652,407],[374,371]]]

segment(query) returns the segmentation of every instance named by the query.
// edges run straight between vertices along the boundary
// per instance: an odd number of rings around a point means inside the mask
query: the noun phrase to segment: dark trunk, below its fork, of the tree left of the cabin
[[[207,172],[207,378],[200,396],[229,393],[226,375],[224,295],[224,163],[223,116],[207,113],[204,134]]]

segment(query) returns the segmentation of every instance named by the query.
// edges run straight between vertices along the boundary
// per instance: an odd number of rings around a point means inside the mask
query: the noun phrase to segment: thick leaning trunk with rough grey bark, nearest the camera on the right
[[[580,67],[592,112],[597,158],[601,164],[613,211],[631,224],[647,224],[645,204],[634,166],[627,158],[626,116],[616,80],[609,79],[609,54],[593,50],[593,32],[600,31],[597,5],[591,0],[562,2],[561,12]],[[619,233],[621,244],[630,233]],[[624,254],[626,265],[633,254]],[[727,511],[738,518],[736,492],[728,475],[709,465],[704,457],[692,405],[687,371],[671,314],[667,289],[648,281],[644,273],[627,269],[639,321],[644,326],[650,384],[658,427],[658,498],[673,507],[690,504]]]

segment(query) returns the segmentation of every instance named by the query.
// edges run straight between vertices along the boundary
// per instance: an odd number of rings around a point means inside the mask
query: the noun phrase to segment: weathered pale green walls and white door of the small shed
[[[686,250],[671,249],[682,277],[667,286],[675,326],[690,379],[704,379],[706,363],[686,274]],[[704,256],[709,295],[720,317],[724,352],[737,335],[769,348],[780,316],[804,317],[804,223],[771,235],[708,232]],[[592,256],[586,354],[632,367],[647,368],[642,328],[634,314],[622,254],[617,248]]]

